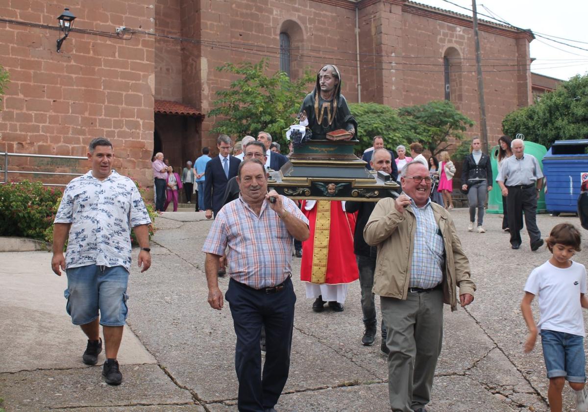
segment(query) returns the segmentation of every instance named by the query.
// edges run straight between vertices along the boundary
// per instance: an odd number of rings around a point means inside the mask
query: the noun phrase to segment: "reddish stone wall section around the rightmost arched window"
[[[476,122],[468,133],[479,135],[479,106],[473,30],[461,25],[439,21],[425,16],[403,13],[403,52],[423,59],[405,58],[411,65],[403,65],[403,105],[425,104],[432,99],[445,98],[443,84],[443,54],[454,47],[462,57],[461,67],[452,76],[452,102],[467,117]],[[527,42],[519,39],[519,42]],[[486,122],[490,145],[502,135],[502,119],[519,107],[521,94],[517,74],[517,39],[480,31],[483,79],[486,100]],[[528,42],[526,46],[528,54]],[[507,60],[505,60],[507,59]],[[528,60],[527,60],[528,61]],[[434,64],[433,66],[415,63]],[[463,71],[461,74],[459,71]],[[526,87],[526,86],[524,86]],[[527,99],[528,101],[528,99]]]

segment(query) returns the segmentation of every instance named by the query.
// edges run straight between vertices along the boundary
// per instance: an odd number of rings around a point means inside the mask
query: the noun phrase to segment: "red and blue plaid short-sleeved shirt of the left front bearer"
[[[308,225],[308,218],[295,202],[282,196],[284,209]],[[229,202],[219,211],[202,251],[222,255],[228,247],[227,273],[254,289],[283,283],[292,271],[292,235],[263,201],[259,216],[243,200]]]

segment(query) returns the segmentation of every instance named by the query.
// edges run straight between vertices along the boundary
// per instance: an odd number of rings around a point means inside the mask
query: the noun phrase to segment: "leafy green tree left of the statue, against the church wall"
[[[215,108],[208,113],[209,117],[220,117],[215,121],[213,132],[240,139],[264,130],[274,141],[285,142],[283,130],[294,121],[293,116],[298,114],[309,92],[308,84],[315,78],[309,71],[296,81],[290,81],[280,71],[268,77],[264,74],[268,65],[268,61],[262,59],[257,64],[226,63],[216,68],[238,78],[228,89],[216,92]]]

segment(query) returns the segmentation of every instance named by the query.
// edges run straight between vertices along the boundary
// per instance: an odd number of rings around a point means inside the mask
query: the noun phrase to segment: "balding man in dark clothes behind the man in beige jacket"
[[[392,155],[383,148],[374,149],[370,165],[376,171],[386,173],[392,172]],[[345,211],[349,213],[358,212],[358,220],[355,224],[353,235],[353,249],[359,268],[359,284],[362,288],[362,312],[365,332],[362,337],[362,344],[373,345],[376,338],[376,307],[372,293],[373,273],[376,268],[376,248],[366,244],[363,240],[363,228],[365,227],[376,202],[345,202]],[[386,330],[382,323],[382,346],[380,351],[387,355]]]

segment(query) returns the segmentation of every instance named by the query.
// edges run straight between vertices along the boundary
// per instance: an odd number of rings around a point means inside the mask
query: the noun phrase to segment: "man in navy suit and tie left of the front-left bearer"
[[[219,155],[206,164],[204,172],[204,208],[207,219],[216,217],[220,208],[223,207],[222,199],[225,195],[226,184],[230,178],[237,175],[239,159],[230,156],[230,137],[225,134],[219,135],[216,139],[216,147]]]

